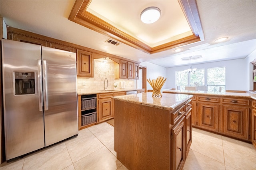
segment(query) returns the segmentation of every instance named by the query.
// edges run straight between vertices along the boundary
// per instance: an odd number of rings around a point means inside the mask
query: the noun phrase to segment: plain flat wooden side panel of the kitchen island
[[[170,111],[114,100],[114,149],[130,170],[170,169]]]

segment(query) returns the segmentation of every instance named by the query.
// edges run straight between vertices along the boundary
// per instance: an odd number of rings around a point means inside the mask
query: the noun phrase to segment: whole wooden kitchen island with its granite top
[[[128,169],[182,169],[192,142],[192,95],[114,97],[117,159]]]

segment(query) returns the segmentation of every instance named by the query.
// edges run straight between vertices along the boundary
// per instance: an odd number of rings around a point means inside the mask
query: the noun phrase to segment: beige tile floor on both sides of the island
[[[1,170],[127,170],[116,159],[114,127],[100,123],[78,137],[4,163]],[[193,128],[184,170],[256,170],[256,149],[214,133]]]

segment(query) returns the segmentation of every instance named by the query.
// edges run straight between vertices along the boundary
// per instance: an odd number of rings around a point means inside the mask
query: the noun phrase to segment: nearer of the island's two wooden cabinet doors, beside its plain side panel
[[[182,169],[185,163],[186,133],[185,116],[179,119],[178,123],[171,129],[171,169]]]

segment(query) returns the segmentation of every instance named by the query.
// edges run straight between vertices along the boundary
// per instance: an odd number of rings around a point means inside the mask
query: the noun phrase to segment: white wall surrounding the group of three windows
[[[214,68],[226,66],[226,90],[249,90],[248,62],[246,59],[218,61],[204,64],[192,64],[192,68]],[[167,88],[175,88],[175,71],[189,68],[179,66],[167,68]]]

